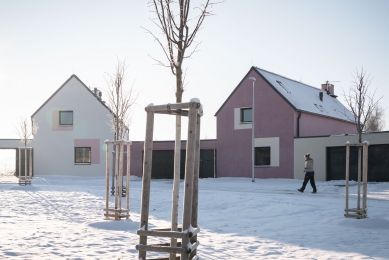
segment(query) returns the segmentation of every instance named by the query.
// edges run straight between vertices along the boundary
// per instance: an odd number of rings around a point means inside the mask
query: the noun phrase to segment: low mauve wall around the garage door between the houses
[[[131,175],[142,177],[143,141],[134,141],[131,145]],[[200,140],[200,149],[216,149],[216,140]],[[174,150],[174,141],[154,141],[153,150]],[[186,150],[186,141],[181,142],[181,150]]]

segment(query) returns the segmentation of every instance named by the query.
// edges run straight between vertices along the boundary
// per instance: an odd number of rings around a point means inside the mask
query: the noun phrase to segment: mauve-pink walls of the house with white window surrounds
[[[255,139],[278,138],[279,140],[278,147],[276,147],[279,156],[278,165],[256,166],[255,178],[294,177],[295,137],[355,132],[353,123],[314,113],[300,113],[290,101],[280,94],[280,90],[271,86],[269,81],[253,67],[215,115],[217,117],[218,177],[252,176],[251,125],[246,129],[244,125],[243,129],[237,129],[236,118],[234,119],[236,109],[252,107],[253,83],[249,80],[250,77],[256,78]],[[312,92],[312,87],[309,88]],[[319,91],[320,89],[317,90]],[[318,101],[315,102],[320,104]]]

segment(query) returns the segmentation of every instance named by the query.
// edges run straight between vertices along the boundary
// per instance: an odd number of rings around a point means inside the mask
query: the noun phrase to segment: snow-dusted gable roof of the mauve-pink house
[[[293,107],[294,110],[354,123],[353,114],[336,97],[328,95],[325,90],[309,86],[258,67],[251,67],[250,71],[219,108],[215,116],[220,112],[251,71],[256,72],[265,80],[269,86]],[[323,92],[323,101],[319,98],[320,92]]]

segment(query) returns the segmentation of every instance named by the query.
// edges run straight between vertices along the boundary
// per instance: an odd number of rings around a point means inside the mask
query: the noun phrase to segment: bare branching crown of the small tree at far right
[[[345,101],[349,106],[351,113],[354,115],[355,126],[358,132],[358,142],[362,143],[362,132],[364,126],[371,118],[372,114],[378,106],[378,102],[382,99],[374,100],[375,92],[370,93],[369,87],[371,83],[370,75],[366,75],[366,71],[358,69],[353,74],[353,83],[349,93],[345,94]]]

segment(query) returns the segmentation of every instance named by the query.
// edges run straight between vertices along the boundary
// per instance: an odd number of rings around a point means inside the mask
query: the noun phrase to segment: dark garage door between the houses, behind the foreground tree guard
[[[200,150],[200,178],[213,178],[215,150]],[[181,150],[180,178],[185,176],[186,151]],[[154,150],[151,178],[153,179],[173,179],[174,174],[174,151]]]

